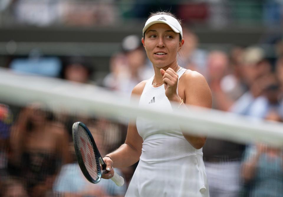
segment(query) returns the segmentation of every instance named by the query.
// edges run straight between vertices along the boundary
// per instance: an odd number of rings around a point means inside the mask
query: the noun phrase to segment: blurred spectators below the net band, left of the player
[[[0,196],[124,196],[134,168],[116,169],[125,178],[122,187],[107,180],[89,183],[75,157],[71,128],[76,121],[87,124],[105,155],[123,143],[126,127],[102,118],[42,109],[42,103],[29,104],[14,119],[13,107],[0,105]]]

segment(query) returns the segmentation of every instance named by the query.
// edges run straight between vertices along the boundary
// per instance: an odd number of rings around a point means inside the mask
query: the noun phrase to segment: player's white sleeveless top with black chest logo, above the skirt
[[[182,68],[177,72],[180,77],[186,69]],[[170,101],[165,95],[164,85],[159,87],[152,86],[153,76],[147,81],[139,100],[139,107],[150,107],[153,109],[163,109],[172,111]],[[178,92],[177,92],[178,93]],[[201,149],[195,149],[183,136],[178,125],[160,124],[156,126],[154,120],[146,120],[141,117],[136,118],[136,128],[139,135],[143,138],[142,161],[162,161],[175,158],[181,158],[188,155],[202,153]],[[178,129],[176,129],[178,128]]]

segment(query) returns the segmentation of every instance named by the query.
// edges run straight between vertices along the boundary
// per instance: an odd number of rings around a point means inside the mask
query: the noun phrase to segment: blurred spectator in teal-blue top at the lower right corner
[[[278,111],[270,110],[265,119],[282,121]],[[245,183],[242,196],[279,197],[283,193],[283,152],[263,143],[245,150],[241,176]]]

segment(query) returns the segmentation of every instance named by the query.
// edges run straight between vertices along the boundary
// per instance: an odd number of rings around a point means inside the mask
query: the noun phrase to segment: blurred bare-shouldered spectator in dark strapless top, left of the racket
[[[68,135],[33,103],[21,110],[12,128],[9,173],[23,177],[31,197],[44,196],[52,189],[62,164],[68,162]]]

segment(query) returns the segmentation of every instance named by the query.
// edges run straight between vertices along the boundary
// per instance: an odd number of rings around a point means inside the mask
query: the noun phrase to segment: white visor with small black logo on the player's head
[[[173,29],[174,32],[180,33],[181,37],[183,38],[182,27],[180,23],[177,21],[177,19],[175,19],[172,16],[164,15],[164,14],[150,17],[145,23],[144,29],[142,29],[142,35],[144,35],[144,32],[147,30],[147,28],[149,28],[155,23],[165,23],[169,25],[169,27],[171,27],[171,29]]]

